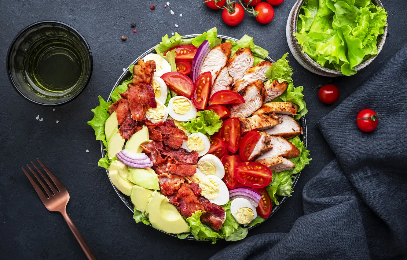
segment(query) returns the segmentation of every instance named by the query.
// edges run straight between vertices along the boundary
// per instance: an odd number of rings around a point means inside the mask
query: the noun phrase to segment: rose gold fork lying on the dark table
[[[85,252],[86,256],[88,259],[97,259],[96,256],[93,254],[92,250],[90,249],[89,245],[86,243],[85,239],[83,239],[81,233],[79,233],[79,230],[77,227],[75,227],[74,223],[72,223],[72,220],[69,218],[68,214],[66,213],[66,205],[68,204],[69,201],[69,194],[66,188],[62,185],[62,183],[54,176],[54,174],[48,170],[48,168],[39,161],[37,158],[37,161],[39,164],[41,164],[42,168],[45,170],[45,172],[48,174],[50,179],[53,181],[55,187],[57,187],[58,191],[55,189],[53,185],[51,185],[50,181],[48,181],[48,178],[44,176],[41,170],[35,165],[33,162],[33,166],[39,174],[41,174],[42,178],[44,178],[45,182],[48,184],[49,188],[51,189],[52,193],[48,189],[48,187],[42,182],[41,178],[38,177],[38,175],[35,173],[35,171],[30,167],[30,165],[27,164],[28,169],[34,174],[35,178],[37,178],[38,182],[41,184],[41,186],[44,188],[44,192],[41,190],[39,185],[35,183],[33,178],[26,172],[24,167],[22,168],[24,173],[26,174],[28,180],[30,180],[31,184],[33,185],[35,191],[37,192],[39,198],[41,198],[42,203],[44,203],[45,207],[49,211],[57,211],[62,214],[63,218],[65,218],[66,223],[68,223],[69,228],[71,229],[72,233],[74,234],[75,238],[78,240],[79,245],[81,245],[83,252]],[[48,195],[48,197],[46,196]]]

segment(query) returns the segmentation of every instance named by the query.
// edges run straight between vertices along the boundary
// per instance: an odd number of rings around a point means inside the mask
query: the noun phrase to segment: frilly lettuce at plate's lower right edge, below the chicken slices
[[[291,190],[291,185],[293,185],[292,178],[294,177],[294,174],[301,172],[302,169],[304,169],[305,165],[309,164],[309,162],[311,161],[311,158],[309,158],[309,150],[306,150],[305,144],[298,136],[288,141],[290,141],[293,145],[295,145],[295,147],[298,148],[298,150],[300,150],[300,156],[297,156],[290,160],[295,165],[294,169],[274,173],[271,183],[266,187],[271,200],[276,205],[278,205],[276,194],[280,196],[291,196],[291,193],[293,192]]]

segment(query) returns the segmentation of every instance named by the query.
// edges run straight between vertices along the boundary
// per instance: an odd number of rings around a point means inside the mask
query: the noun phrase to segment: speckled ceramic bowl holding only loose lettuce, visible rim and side
[[[287,19],[286,36],[291,53],[293,54],[294,58],[298,61],[298,63],[301,64],[301,66],[311,71],[312,73],[328,77],[343,76],[344,74],[342,74],[341,71],[325,68],[317,64],[317,62],[311,59],[311,57],[309,57],[306,53],[302,52],[302,46],[298,44],[297,39],[295,39],[293,33],[297,33],[298,15],[300,14],[301,7],[304,4],[304,2],[306,2],[306,0],[298,0],[291,9],[291,12]],[[372,3],[377,6],[383,7],[381,0],[372,0]],[[384,33],[377,37],[377,54],[374,56],[371,55],[365,56],[361,64],[355,66],[356,71],[362,70],[363,68],[367,67],[374,61],[374,59],[377,57],[377,55],[379,55],[379,53],[383,49],[386,37],[387,37],[387,25],[384,27]]]

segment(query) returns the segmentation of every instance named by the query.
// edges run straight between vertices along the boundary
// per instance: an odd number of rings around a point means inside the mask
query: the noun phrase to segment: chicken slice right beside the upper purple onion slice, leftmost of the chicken
[[[232,52],[232,44],[230,42],[225,42],[213,47],[206,55],[204,62],[201,66],[201,71],[199,74],[206,71],[212,73],[212,85],[222,67],[228,62],[230,53]]]

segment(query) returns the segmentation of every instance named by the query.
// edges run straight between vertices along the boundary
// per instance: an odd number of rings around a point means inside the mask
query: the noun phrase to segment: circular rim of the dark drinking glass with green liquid
[[[90,64],[89,64],[90,72],[89,72],[89,74],[88,74],[88,78],[86,79],[85,84],[83,84],[83,86],[81,87],[81,89],[80,89],[77,93],[75,93],[74,95],[70,96],[69,99],[67,99],[67,100],[65,100],[65,101],[62,101],[62,102],[55,103],[55,104],[44,104],[44,103],[41,103],[41,102],[37,102],[37,101],[34,101],[33,99],[27,97],[26,95],[24,95],[24,94],[20,91],[20,89],[18,89],[17,85],[15,84],[14,79],[13,79],[13,77],[11,76],[11,68],[10,68],[10,65],[11,65],[11,64],[10,64],[10,62],[11,62],[11,57],[10,57],[10,56],[11,56],[11,50],[12,50],[13,47],[15,46],[15,42],[21,37],[21,35],[22,35],[23,33],[25,33],[26,31],[28,31],[29,29],[32,29],[32,28],[34,28],[35,26],[39,26],[39,25],[41,25],[41,24],[46,24],[46,23],[63,25],[63,26],[68,27],[68,29],[70,29],[70,30],[74,31],[75,33],[77,33],[77,34],[79,35],[79,38],[81,38],[82,42],[85,44],[86,49],[88,50],[89,58],[90,58]],[[68,103],[68,102],[74,100],[76,97],[78,97],[78,96],[83,92],[83,90],[86,88],[86,86],[88,86],[88,84],[89,84],[89,82],[90,82],[90,78],[92,77],[92,72],[93,72],[93,55],[92,55],[92,50],[90,49],[90,45],[89,45],[88,42],[86,41],[85,37],[83,37],[83,35],[82,35],[77,29],[75,29],[73,26],[71,26],[71,25],[69,25],[69,24],[67,24],[67,23],[65,23],[65,22],[60,22],[60,21],[57,21],[57,20],[42,20],[42,21],[38,21],[38,22],[35,22],[35,23],[33,23],[33,24],[30,24],[30,25],[24,27],[17,35],[15,35],[15,37],[14,37],[14,39],[11,41],[11,44],[10,44],[9,49],[8,49],[8,51],[7,51],[7,56],[6,56],[6,71],[7,71],[7,75],[8,75],[8,77],[9,77],[10,83],[11,83],[11,85],[13,86],[14,90],[15,90],[20,96],[24,97],[24,99],[30,101],[31,103],[40,105],[40,106],[48,106],[48,107],[49,107],[49,106],[60,106],[60,105],[62,105],[62,104],[66,104],[66,103]]]

